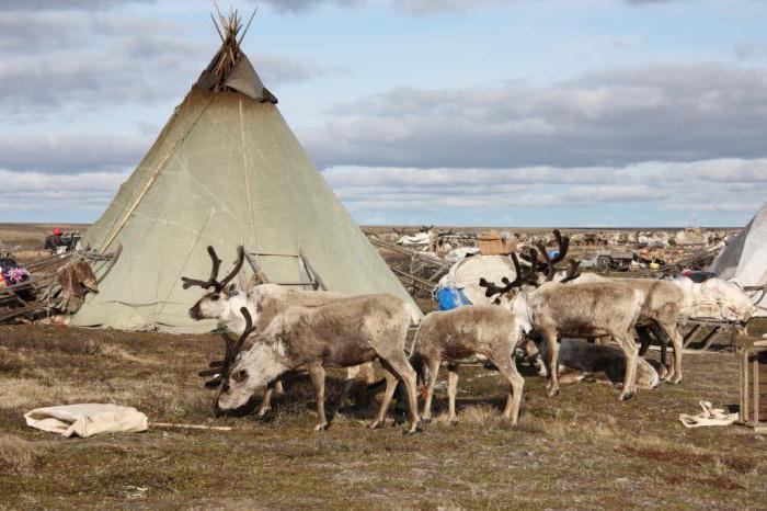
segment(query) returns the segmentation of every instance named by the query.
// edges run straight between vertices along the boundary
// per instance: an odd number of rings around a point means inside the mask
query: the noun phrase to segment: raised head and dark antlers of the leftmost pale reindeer
[[[218,259],[216,250],[208,247],[208,256],[213,262],[210,276],[207,281],[198,281],[195,279],[181,277],[184,289],[192,286],[199,286],[208,291],[190,308],[190,317],[192,319],[218,319],[222,322],[241,322],[239,310],[248,303],[247,288],[244,276],[240,273],[244,261],[245,251],[242,247],[238,248],[237,262],[234,268],[224,280],[218,281],[218,271],[221,266],[221,260]],[[238,282],[231,282],[236,276],[240,276]],[[239,329],[237,329],[239,331]]]

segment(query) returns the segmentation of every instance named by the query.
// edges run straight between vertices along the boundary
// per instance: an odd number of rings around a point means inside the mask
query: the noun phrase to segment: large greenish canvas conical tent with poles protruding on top
[[[241,52],[237,14],[221,25],[221,49],[88,229],[91,248],[123,252],[72,323],[210,330],[187,315],[201,289],[181,285],[182,275],[209,274],[208,245],[224,269],[244,245],[261,254],[272,282],[306,282],[311,273],[330,291],[389,293],[412,304]]]

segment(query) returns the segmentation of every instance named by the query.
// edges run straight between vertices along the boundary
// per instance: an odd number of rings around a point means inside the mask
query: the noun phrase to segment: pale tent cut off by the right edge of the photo
[[[721,279],[742,287],[758,287],[751,291],[758,316],[767,316],[767,204],[752,218],[746,227],[717,256],[711,264],[712,272]]]

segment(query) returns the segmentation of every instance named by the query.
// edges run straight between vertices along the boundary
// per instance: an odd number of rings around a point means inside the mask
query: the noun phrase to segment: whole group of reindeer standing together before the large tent
[[[533,341],[545,354],[549,396],[559,394],[560,340],[611,340],[625,354],[620,399],[637,393],[640,348],[651,337],[664,345],[671,342],[674,363],[664,372],[665,381],[682,379],[683,339],[677,318],[689,299],[685,288],[691,281],[654,279],[608,279],[579,273],[579,262],[563,262],[569,239],[554,231],[559,245],[556,257],[538,243],[526,253],[511,256],[514,280],[480,281],[489,297],[486,304],[469,305],[448,311],[434,311],[422,319],[413,304],[388,294],[346,296],[322,291],[298,291],[266,283],[256,272],[247,279],[242,271],[244,249],[238,249],[233,270],[218,280],[221,261],[213,247],[207,281],[183,277],[184,288],[199,286],[204,296],[190,309],[196,320],[216,319],[224,333],[224,360],[214,361],[201,376],[210,377],[209,388],[218,388],[221,411],[243,407],[256,390],[265,388],[257,411],[271,409],[274,393],[282,391],[282,378],[307,372],[314,389],[319,421],[316,430],[329,425],[324,406],[325,367],[347,368],[346,386],[360,374],[373,378],[371,363],[378,360],[386,375],[386,390],[370,428],[381,427],[401,382],[408,402],[405,433],[420,431],[417,376],[424,375],[426,397],[423,420],[432,418],[432,400],[443,362],[448,366],[448,418],[456,419],[457,365],[471,356],[484,357],[511,385],[503,417],[516,424],[524,378],[515,363],[518,347]],[[420,323],[420,325],[419,325]],[[419,325],[407,345],[408,330]],[[637,333],[639,332],[639,333]],[[245,341],[251,343],[245,348]],[[622,360],[622,357],[621,357]],[[424,368],[416,373],[414,362]],[[665,356],[664,356],[665,363]],[[622,367],[621,367],[622,368]]]

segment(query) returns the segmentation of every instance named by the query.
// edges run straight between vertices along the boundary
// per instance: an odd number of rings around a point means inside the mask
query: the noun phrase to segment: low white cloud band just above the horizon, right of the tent
[[[369,216],[632,203],[653,211],[752,212],[767,194],[767,159],[598,168],[333,167],[323,175],[350,207]]]

